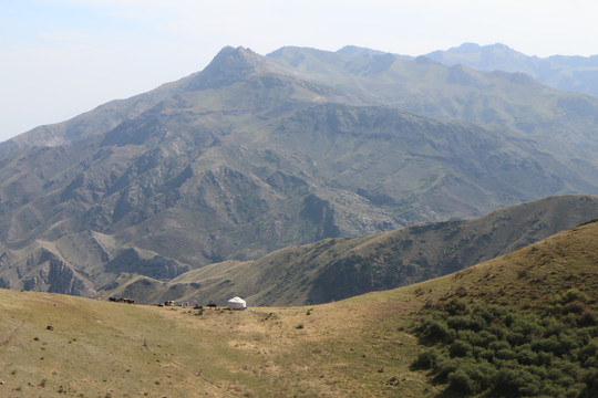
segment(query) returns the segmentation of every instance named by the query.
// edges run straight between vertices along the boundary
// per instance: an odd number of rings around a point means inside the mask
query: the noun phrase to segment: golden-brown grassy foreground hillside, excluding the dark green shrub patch
[[[589,343],[553,360],[581,369],[568,381],[581,396],[596,366],[580,365],[578,350],[590,347],[591,358],[597,326],[577,321],[596,320],[597,241],[590,222],[441,279],[307,307],[202,312],[0,290],[0,395],[463,396],[413,366],[430,349],[420,344],[425,322],[456,298],[515,317],[565,314],[575,290],[584,311],[566,313],[574,322],[559,333],[579,336],[581,325]]]

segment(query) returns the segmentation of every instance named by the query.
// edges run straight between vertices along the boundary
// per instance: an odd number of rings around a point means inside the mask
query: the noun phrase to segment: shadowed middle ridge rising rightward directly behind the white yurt
[[[104,296],[145,303],[303,305],[388,290],[445,275],[598,217],[598,197],[551,197],[467,221],[417,224],[365,238],[282,249],[254,262],[225,262],[171,282],[123,275]]]

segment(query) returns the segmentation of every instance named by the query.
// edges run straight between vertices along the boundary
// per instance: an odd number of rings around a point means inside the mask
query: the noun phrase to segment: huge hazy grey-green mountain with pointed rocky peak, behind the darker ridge
[[[93,296],[131,274],[154,284],[327,238],[598,195],[597,121],[597,98],[522,73],[226,48],[202,72],[0,145],[0,287]],[[594,197],[564,200],[577,203],[567,223],[533,224],[554,233],[597,217]],[[399,285],[400,272],[350,294]]]

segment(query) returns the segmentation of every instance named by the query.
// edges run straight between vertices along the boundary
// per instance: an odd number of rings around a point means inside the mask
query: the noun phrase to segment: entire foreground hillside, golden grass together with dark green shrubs
[[[443,277],[303,307],[0,290],[0,394],[592,397],[597,239],[587,222]]]

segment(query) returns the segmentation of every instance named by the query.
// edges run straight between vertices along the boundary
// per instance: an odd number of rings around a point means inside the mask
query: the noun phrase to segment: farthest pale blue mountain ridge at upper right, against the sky
[[[499,43],[463,43],[425,56],[448,66],[462,64],[480,71],[525,73],[542,84],[598,97],[598,55],[538,57],[525,55]]]

